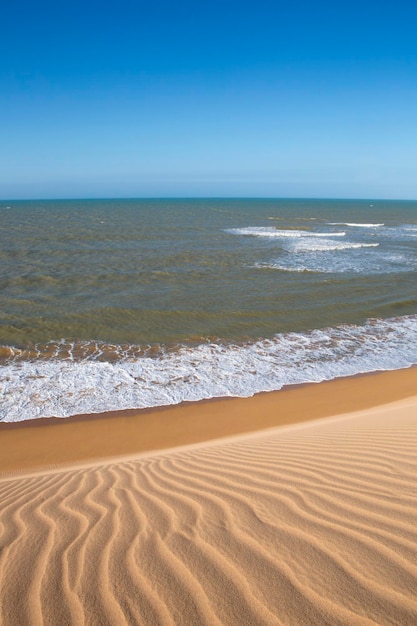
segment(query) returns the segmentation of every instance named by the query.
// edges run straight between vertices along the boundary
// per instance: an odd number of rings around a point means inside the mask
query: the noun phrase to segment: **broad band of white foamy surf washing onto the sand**
[[[282,333],[244,344],[136,348],[136,355],[133,349],[126,357],[125,346],[113,346],[110,360],[74,360],[74,355],[12,360],[0,369],[0,419],[248,397],[284,385],[404,368],[417,363],[417,315]]]

